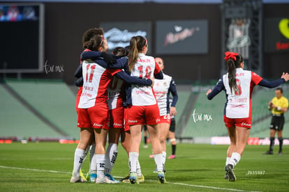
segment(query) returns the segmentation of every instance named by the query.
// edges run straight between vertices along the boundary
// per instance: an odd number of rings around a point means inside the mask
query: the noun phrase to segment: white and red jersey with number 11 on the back
[[[107,104],[108,85],[112,76],[120,70],[110,70],[101,67],[94,61],[82,62],[82,95],[78,107],[88,109],[96,104]]]

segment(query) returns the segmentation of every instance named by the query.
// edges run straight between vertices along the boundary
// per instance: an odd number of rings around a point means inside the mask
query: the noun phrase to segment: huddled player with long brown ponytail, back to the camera
[[[147,39],[138,35],[130,40],[130,51],[128,53],[128,72],[133,77],[142,79],[152,79],[155,74],[159,74],[163,79],[161,68],[151,56],[146,56]],[[157,75],[156,75],[157,78]],[[125,112],[126,124],[131,130],[131,150],[129,152],[129,161],[131,162],[131,184],[138,184],[136,168],[139,156],[139,148],[142,140],[142,125],[147,125],[151,145],[154,151],[154,160],[158,170],[158,179],[165,183],[163,173],[162,149],[159,141],[159,131],[157,124],[160,121],[158,104],[154,91],[150,86],[131,86],[126,88],[126,104],[128,107]]]

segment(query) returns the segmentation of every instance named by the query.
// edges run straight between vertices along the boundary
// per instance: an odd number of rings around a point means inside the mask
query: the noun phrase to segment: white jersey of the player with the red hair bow
[[[251,117],[251,93],[253,87],[262,80],[254,72],[243,70],[242,68],[236,69],[236,83],[239,92],[232,89],[230,90],[228,73],[223,75],[223,84],[227,97],[225,106],[225,116],[227,118],[249,118]]]

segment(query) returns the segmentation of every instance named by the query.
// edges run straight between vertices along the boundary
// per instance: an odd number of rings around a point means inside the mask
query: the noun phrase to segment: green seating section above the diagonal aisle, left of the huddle
[[[79,138],[75,95],[66,83],[50,80],[8,80],[6,84],[62,138]]]

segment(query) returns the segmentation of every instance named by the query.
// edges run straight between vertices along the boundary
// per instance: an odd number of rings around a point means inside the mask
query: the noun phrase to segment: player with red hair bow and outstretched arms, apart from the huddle
[[[213,99],[221,90],[225,91],[227,102],[224,109],[224,122],[230,137],[230,146],[225,162],[225,179],[235,182],[233,168],[240,161],[249,138],[252,121],[251,94],[255,85],[274,88],[289,80],[289,74],[283,73],[281,79],[267,81],[258,74],[244,70],[241,55],[225,52],[228,72],[218,80],[213,90],[207,91],[207,98]]]

